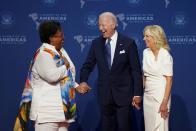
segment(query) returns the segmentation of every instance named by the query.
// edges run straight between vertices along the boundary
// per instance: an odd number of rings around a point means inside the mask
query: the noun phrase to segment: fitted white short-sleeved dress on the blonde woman
[[[143,51],[144,83],[144,121],[145,131],[168,131],[168,117],[161,118],[159,107],[166,88],[165,76],[173,76],[173,58],[170,53],[160,48],[157,59],[150,48]],[[169,98],[168,107],[170,108]]]

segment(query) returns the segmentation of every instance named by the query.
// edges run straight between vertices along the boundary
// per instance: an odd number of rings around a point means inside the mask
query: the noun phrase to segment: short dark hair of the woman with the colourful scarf
[[[39,26],[39,36],[42,43],[50,44],[50,37],[61,31],[61,24],[57,21],[44,21]]]

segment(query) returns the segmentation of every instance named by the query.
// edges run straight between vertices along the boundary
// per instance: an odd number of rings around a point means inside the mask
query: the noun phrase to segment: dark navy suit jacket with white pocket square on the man
[[[109,104],[113,99],[119,106],[130,105],[132,96],[141,96],[143,90],[137,46],[133,39],[118,33],[110,70],[104,53],[105,41],[102,36],[92,41],[87,59],[80,71],[80,82],[87,82],[97,64],[100,103]]]

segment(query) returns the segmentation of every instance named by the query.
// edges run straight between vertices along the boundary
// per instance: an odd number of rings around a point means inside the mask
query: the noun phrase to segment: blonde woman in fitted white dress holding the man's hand
[[[164,30],[158,25],[144,28],[143,51],[145,131],[168,131],[173,60]]]

